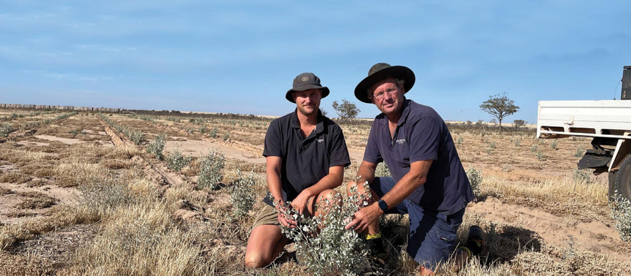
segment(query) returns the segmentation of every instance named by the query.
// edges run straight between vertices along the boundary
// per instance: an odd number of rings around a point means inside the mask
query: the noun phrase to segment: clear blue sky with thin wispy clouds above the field
[[[283,115],[314,72],[333,100],[376,62],[410,67],[408,93],[445,120],[490,120],[506,92],[620,97],[629,1],[0,1],[0,102]]]

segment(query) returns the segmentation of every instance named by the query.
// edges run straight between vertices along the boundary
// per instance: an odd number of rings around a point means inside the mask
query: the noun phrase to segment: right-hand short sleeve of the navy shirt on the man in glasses
[[[438,159],[443,124],[432,117],[420,118],[410,128],[410,163]]]

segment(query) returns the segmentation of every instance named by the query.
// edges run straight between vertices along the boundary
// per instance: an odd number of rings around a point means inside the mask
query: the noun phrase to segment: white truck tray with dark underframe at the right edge
[[[539,101],[537,117],[540,139],[593,137],[578,168],[608,172],[610,200],[631,200],[631,66],[623,68],[621,100]]]

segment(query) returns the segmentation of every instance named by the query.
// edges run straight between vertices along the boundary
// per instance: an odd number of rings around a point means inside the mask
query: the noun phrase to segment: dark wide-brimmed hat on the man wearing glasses
[[[355,98],[364,103],[372,103],[370,98],[368,98],[367,90],[372,84],[389,77],[403,79],[405,81],[403,83],[403,89],[405,90],[403,94],[408,93],[416,81],[416,76],[414,76],[414,72],[412,72],[410,68],[405,66],[390,66],[390,64],[380,62],[370,67],[368,76],[357,84],[355,87]]]

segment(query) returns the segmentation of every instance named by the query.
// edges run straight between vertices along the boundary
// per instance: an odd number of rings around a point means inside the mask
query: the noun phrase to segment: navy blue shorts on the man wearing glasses
[[[396,183],[391,177],[375,177],[370,188],[383,197]],[[410,217],[410,239],[408,253],[416,262],[434,270],[440,262],[446,262],[454,252],[456,233],[463,222],[464,208],[445,215],[423,207],[410,199],[405,199],[386,214],[408,214]]]

